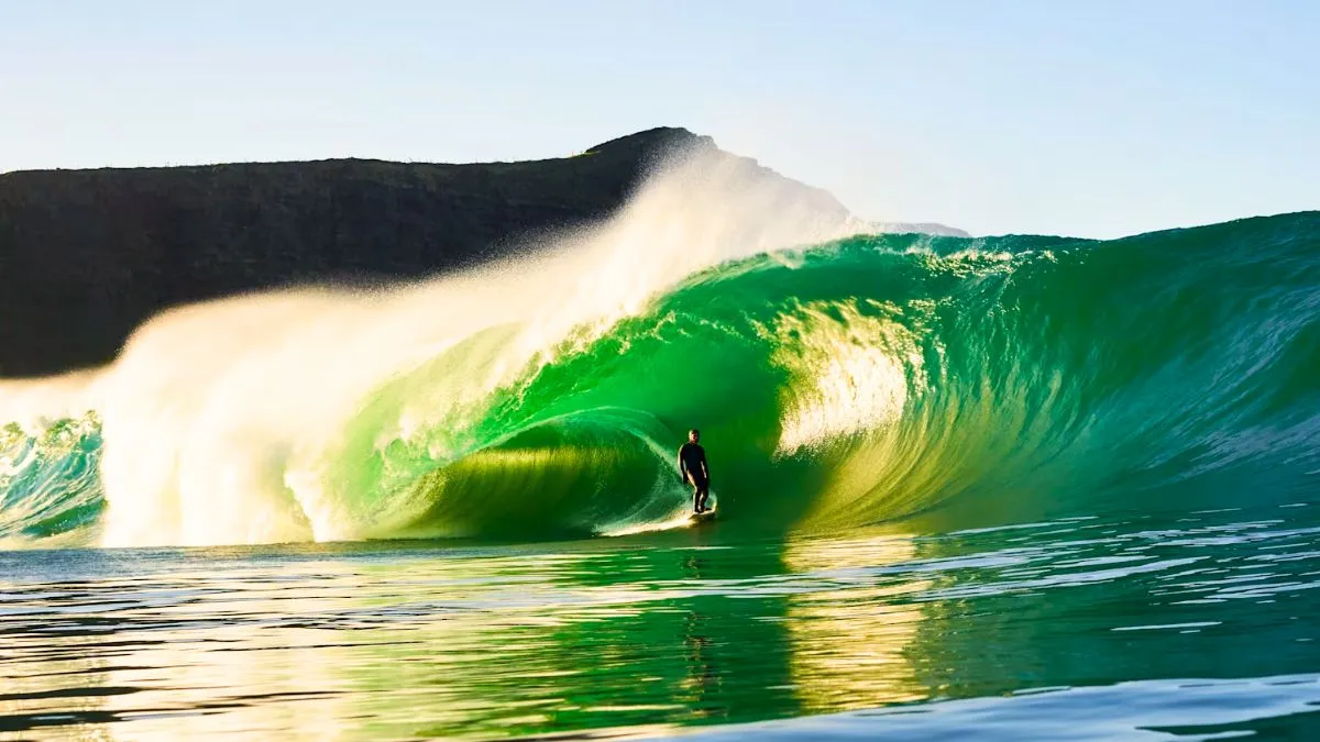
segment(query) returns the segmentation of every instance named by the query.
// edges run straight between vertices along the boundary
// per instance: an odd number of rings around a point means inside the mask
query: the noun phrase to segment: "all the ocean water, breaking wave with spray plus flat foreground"
[[[0,384],[0,735],[1320,737],[1320,214],[866,235],[660,184]]]

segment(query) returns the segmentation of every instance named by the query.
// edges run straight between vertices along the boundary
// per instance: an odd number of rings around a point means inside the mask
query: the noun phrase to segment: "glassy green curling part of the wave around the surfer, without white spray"
[[[858,236],[689,276],[490,389],[519,329],[484,330],[381,380],[326,477],[367,537],[630,532],[681,518],[698,426],[729,529],[1233,507],[1315,486],[1317,317],[1316,213]]]

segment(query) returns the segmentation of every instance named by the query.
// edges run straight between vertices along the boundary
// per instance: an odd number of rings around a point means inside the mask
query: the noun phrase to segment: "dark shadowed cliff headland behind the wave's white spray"
[[[0,376],[107,363],[139,323],[181,304],[479,263],[520,235],[607,217],[675,148],[718,152],[709,137],[657,128],[531,162],[0,174]],[[846,214],[826,191],[796,186]]]

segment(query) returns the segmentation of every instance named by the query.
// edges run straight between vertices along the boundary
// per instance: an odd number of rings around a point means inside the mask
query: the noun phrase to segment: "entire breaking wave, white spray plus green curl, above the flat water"
[[[730,531],[1243,507],[1320,481],[1317,213],[755,252],[768,232],[676,230],[672,206],[499,273],[168,316],[57,395],[63,417],[4,429],[0,539],[668,528],[689,426]],[[768,242],[837,230],[800,217]],[[639,256],[630,235],[657,231]],[[730,243],[754,253],[710,247]]]

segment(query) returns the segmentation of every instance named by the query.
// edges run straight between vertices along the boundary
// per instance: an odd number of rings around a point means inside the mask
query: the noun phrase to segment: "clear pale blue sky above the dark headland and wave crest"
[[[1320,3],[0,0],[0,172],[568,154],[682,125],[853,211],[1320,209]]]

